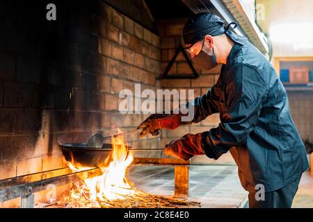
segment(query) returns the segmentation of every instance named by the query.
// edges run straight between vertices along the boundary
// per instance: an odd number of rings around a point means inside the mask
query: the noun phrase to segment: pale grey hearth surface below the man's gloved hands
[[[129,179],[135,187],[152,194],[174,194],[174,167],[134,166]],[[189,167],[189,197],[202,207],[243,207],[248,192],[240,184],[237,167],[192,165]]]

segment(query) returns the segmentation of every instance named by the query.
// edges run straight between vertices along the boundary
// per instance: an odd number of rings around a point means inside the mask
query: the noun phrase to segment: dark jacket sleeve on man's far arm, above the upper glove
[[[207,118],[209,115],[214,114],[220,111],[220,103],[223,103],[221,100],[222,91],[220,89],[220,80],[209,89],[209,91],[203,96],[198,96],[193,101],[193,123],[198,123],[203,119]],[[187,108],[188,108],[187,103]]]

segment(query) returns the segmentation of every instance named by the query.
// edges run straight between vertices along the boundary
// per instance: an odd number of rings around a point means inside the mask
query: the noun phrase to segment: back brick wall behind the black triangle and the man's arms
[[[184,28],[184,24],[186,19],[172,19],[170,21],[160,21],[157,29],[159,35],[161,37],[161,71],[162,73],[166,70],[168,65],[168,61],[172,59],[174,53],[179,44],[184,46],[184,40],[182,39],[182,29]],[[167,89],[194,89],[195,97],[205,94],[212,85],[216,83],[218,80],[218,76],[220,74],[220,65],[214,67],[210,70],[202,70],[197,67],[195,69],[198,71],[200,75],[199,78],[194,79],[163,79],[161,80],[161,87]],[[168,75],[175,74],[192,74],[190,67],[183,56],[182,53],[179,53],[177,56],[172,68],[170,69]],[[193,98],[188,98],[193,99]],[[200,123],[181,126],[176,130],[172,131],[162,131],[161,135],[161,146],[168,144],[172,139],[177,139],[178,137],[182,137],[186,133],[202,133],[204,131],[210,130],[213,127],[218,126],[220,123],[219,114],[212,114],[211,116],[204,119]],[[208,164],[212,163],[209,158],[204,156],[193,157],[192,162],[194,164]],[[232,162],[232,157],[229,154],[224,155],[218,162],[214,163],[225,163]]]

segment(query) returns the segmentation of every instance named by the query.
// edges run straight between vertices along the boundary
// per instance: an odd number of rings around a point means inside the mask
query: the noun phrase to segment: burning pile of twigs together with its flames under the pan
[[[136,189],[127,180],[127,169],[134,160],[124,138],[112,137],[113,148],[108,157],[109,166],[102,168],[103,174],[72,183],[70,196],[54,201],[46,207],[199,207],[200,203],[186,198],[148,194]],[[67,163],[73,171],[83,171],[74,162]],[[106,165],[107,166],[107,165]]]

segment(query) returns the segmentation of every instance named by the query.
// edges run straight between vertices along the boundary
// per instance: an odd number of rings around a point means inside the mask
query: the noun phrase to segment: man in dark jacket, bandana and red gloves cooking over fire
[[[272,65],[245,37],[211,13],[193,15],[184,26],[191,60],[202,69],[222,64],[216,85],[193,105],[192,123],[220,113],[217,128],[170,142],[164,153],[184,160],[205,154],[215,160],[230,151],[250,207],[291,207],[301,174],[308,168],[305,146],[289,113],[286,90]],[[184,114],[152,114],[142,136],[172,130]],[[258,185],[258,186],[257,186]],[[264,198],[256,198],[264,186]],[[257,186],[257,187],[256,187]]]

